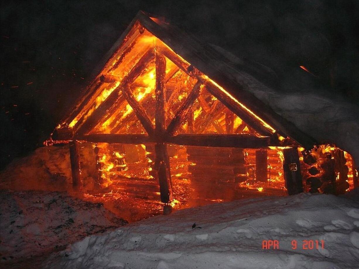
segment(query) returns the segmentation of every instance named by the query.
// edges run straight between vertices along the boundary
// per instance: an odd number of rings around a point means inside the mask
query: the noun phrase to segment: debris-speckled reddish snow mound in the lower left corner
[[[89,234],[125,224],[102,204],[66,193],[1,190],[1,263],[65,249]]]

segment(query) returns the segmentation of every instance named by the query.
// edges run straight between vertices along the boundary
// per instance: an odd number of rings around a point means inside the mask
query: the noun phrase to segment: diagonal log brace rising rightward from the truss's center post
[[[176,115],[174,115],[173,119],[168,124],[167,132],[170,135],[173,135],[176,132],[178,126],[180,126],[180,124],[182,123],[182,121],[186,117],[186,115],[188,113],[188,109],[193,105],[194,101],[197,99],[197,97],[200,94],[200,88],[201,88],[201,82],[197,81],[197,83],[193,87],[192,91],[187,96],[186,101],[184,101],[181,104],[181,106],[178,109]]]

